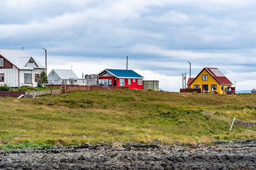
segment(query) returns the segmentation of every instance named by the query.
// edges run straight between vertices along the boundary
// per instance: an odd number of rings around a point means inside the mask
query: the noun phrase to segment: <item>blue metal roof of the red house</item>
[[[105,69],[110,74],[120,78],[144,78],[132,69]]]

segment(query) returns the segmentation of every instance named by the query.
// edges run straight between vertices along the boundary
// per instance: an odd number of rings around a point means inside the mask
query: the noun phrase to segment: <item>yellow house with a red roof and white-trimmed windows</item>
[[[201,89],[201,93],[228,94],[232,90],[235,93],[231,88],[233,84],[217,68],[203,68],[196,78],[188,79],[187,85],[191,89]]]

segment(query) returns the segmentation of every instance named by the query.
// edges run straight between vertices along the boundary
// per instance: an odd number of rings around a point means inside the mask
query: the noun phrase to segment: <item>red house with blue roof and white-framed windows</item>
[[[129,89],[143,89],[143,79],[131,69],[104,69],[99,73],[100,86],[128,86]]]

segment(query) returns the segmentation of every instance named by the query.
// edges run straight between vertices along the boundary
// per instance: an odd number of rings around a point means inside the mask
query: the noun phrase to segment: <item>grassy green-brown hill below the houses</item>
[[[36,142],[213,142],[255,139],[256,95],[93,90],[43,98],[0,98],[0,144]],[[249,131],[248,130],[252,130]]]

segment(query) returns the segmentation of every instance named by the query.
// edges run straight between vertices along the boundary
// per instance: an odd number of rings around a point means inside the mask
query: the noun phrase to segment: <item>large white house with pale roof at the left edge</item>
[[[0,85],[36,87],[45,69],[23,50],[0,50]]]

